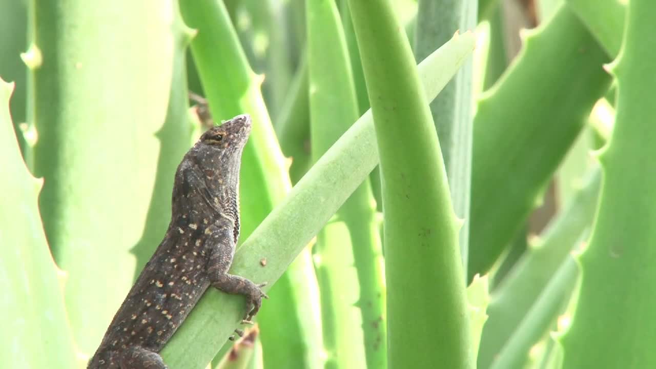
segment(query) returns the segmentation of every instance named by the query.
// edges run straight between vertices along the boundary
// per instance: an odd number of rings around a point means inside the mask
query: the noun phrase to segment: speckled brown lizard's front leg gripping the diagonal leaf
[[[212,225],[208,230],[207,246],[211,248],[207,263],[207,275],[213,287],[232,295],[246,297],[246,315],[244,320],[250,321],[262,306],[262,298],[269,297],[260,290],[266,283],[255,284],[251,280],[228,274],[232,258],[235,255],[233,225],[227,219]]]

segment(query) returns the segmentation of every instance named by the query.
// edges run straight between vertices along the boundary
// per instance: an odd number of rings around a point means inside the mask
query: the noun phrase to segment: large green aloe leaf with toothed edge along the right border
[[[656,85],[656,39],[650,37],[655,18],[653,1],[629,3],[623,47],[611,68],[617,116],[599,156],[604,174],[599,210],[590,244],[579,257],[575,313],[560,339],[564,368],[656,366],[656,275],[649,265],[656,257],[656,171],[649,164],[656,139],[650,98]]]

